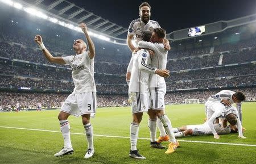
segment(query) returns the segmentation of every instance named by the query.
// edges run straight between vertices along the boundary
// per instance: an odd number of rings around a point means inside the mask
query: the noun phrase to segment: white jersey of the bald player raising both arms
[[[73,92],[79,94],[82,92],[96,92],[94,82],[94,58],[90,59],[88,52],[77,54],[75,56],[63,57],[67,65],[71,66],[72,78],[75,84]]]

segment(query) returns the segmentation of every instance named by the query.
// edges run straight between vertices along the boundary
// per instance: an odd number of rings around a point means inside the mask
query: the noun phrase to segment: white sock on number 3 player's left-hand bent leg
[[[68,120],[60,120],[60,131],[64,139],[64,148],[72,148],[70,140],[70,125]]]

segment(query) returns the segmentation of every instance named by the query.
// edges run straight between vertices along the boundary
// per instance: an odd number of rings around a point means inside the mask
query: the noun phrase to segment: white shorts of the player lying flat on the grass
[[[208,123],[199,124],[199,125],[187,125],[187,129],[192,129],[193,136],[212,134]]]

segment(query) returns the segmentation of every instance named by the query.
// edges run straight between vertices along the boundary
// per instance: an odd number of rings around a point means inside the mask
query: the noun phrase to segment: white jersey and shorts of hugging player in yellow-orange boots
[[[167,54],[164,45],[160,43],[150,43],[139,41],[138,47],[151,49],[155,55],[152,57],[152,67],[157,69],[166,69]],[[151,74],[149,78],[149,87],[153,110],[163,110],[165,108],[164,95],[166,94],[166,81],[158,74]]]

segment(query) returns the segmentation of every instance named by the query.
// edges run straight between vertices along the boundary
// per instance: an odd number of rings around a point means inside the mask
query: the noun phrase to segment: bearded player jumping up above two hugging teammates
[[[158,22],[154,20],[150,20],[151,16],[151,6],[147,2],[141,3],[139,6],[139,16],[140,18],[133,20],[130,23],[129,30],[127,33],[127,45],[130,48],[132,55],[131,55],[131,60],[129,62],[128,68],[127,68],[127,73],[126,73],[126,81],[129,85],[130,82],[130,77],[131,77],[131,69],[133,68],[133,58],[134,58],[134,45],[133,45],[133,40],[135,41],[135,45],[138,44],[140,40],[142,40],[143,37],[143,32],[144,31],[150,31],[153,32],[155,28],[161,28],[158,24]],[[164,48],[166,50],[170,50],[171,47],[169,45],[169,41],[164,38],[163,40]],[[164,130],[163,124],[160,123],[160,120],[156,122],[157,127],[159,128],[160,131],[160,141],[168,141],[169,137],[166,134],[166,131]]]

